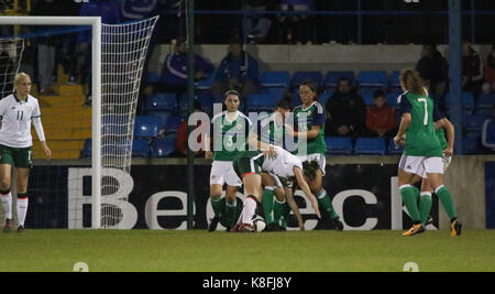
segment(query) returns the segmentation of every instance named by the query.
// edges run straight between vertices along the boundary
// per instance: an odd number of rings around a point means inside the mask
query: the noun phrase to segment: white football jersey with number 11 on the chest
[[[28,95],[25,101],[13,94],[0,100],[0,144],[10,148],[29,148],[33,145],[31,138],[31,119],[41,117],[37,99]]]

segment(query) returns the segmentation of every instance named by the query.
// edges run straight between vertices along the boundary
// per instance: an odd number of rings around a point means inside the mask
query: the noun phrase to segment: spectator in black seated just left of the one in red
[[[366,106],[349,78],[339,79],[326,108],[330,117],[326,135],[360,137],[365,133]]]

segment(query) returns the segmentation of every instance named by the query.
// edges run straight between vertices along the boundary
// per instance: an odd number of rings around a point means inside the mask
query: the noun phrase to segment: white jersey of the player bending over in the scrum
[[[302,162],[290,152],[276,146],[276,159],[265,157],[262,170],[264,172],[274,174],[280,178],[280,181],[288,181],[294,176],[294,166],[299,167],[302,171]]]

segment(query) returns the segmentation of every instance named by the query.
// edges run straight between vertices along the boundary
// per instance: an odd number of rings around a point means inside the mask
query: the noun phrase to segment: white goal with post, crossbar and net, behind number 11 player
[[[0,26],[18,26],[22,32],[20,37],[0,40],[1,95],[13,91],[18,70],[30,74],[31,94],[40,101],[53,154],[47,161],[33,131],[35,164],[28,188],[32,197],[26,227],[35,222],[44,228],[132,228],[132,216],[129,219],[123,210],[131,193],[143,67],[157,20],[103,24],[97,17],[0,17]],[[88,46],[70,53],[81,32],[91,35]],[[47,59],[53,55],[53,61]],[[48,72],[40,66],[54,63]],[[52,72],[52,91],[43,94],[42,79],[50,76],[50,84]],[[92,104],[85,101],[88,97]]]

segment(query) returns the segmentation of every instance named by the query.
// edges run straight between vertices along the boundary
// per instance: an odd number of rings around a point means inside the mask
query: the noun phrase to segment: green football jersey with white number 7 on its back
[[[442,149],[433,124],[433,100],[408,91],[399,97],[399,106],[402,113],[408,112],[411,116],[404,154],[441,156]]]

